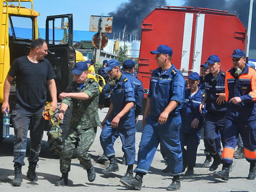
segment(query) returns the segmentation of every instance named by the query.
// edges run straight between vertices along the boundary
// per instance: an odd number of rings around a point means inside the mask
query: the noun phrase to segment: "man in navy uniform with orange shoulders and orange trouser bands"
[[[229,180],[230,165],[240,133],[246,160],[250,163],[247,179],[256,176],[256,71],[246,65],[243,50],[233,52],[233,68],[227,71],[225,88],[227,113],[224,124],[225,146],[222,153],[222,171],[214,177]]]

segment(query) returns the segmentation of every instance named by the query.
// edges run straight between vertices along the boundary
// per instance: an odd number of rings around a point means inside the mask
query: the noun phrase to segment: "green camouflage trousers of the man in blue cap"
[[[69,172],[71,157],[75,146],[77,146],[77,159],[84,169],[89,169],[92,165],[91,157],[87,153],[95,139],[97,127],[88,129],[72,129],[66,134],[63,150],[60,154],[60,172]]]

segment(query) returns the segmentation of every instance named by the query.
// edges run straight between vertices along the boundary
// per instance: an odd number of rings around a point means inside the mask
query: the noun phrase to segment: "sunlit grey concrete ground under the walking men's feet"
[[[103,120],[106,115],[107,109],[99,111],[100,118]],[[137,125],[136,133],[136,149],[138,149],[142,126],[140,121]],[[22,168],[23,182],[20,187],[13,187],[11,181],[14,177],[13,171],[13,138],[5,139],[0,145],[0,192],[9,191],[130,191],[125,188],[120,182],[120,178],[125,174],[126,166],[121,164],[123,152],[121,150],[121,140],[117,139],[115,143],[116,157],[119,164],[119,172],[111,173],[109,175],[103,175],[101,171],[108,165],[101,165],[95,162],[95,160],[102,155],[103,151],[100,146],[99,135],[101,129],[98,128],[95,142],[93,143],[89,153],[96,170],[96,180],[93,183],[88,182],[86,170],[83,170],[77,159],[72,159],[71,172],[69,173],[69,186],[68,187],[55,187],[54,183],[59,179],[59,160],[51,154],[48,149],[47,136],[45,134],[43,146],[40,154],[39,167],[36,169],[39,180],[38,182],[30,182],[26,178],[27,172],[27,159],[26,165]],[[12,132],[13,134],[13,132]],[[28,147],[29,147],[28,138]],[[160,154],[160,148],[158,148],[153,163],[151,165],[149,173],[144,176],[143,188],[141,191],[165,191],[166,187],[171,183],[171,176],[167,173],[162,173],[162,169],[165,168],[164,161]],[[222,181],[215,179],[212,172],[209,171],[209,167],[201,167],[205,157],[203,153],[203,141],[198,148],[197,152],[197,164],[195,167],[195,174],[191,177],[181,177],[181,190],[180,192],[256,192],[256,180],[247,180],[249,163],[245,159],[235,159],[233,171],[230,173],[229,181]],[[137,160],[137,158],[136,158]],[[219,166],[218,170],[221,170]]]

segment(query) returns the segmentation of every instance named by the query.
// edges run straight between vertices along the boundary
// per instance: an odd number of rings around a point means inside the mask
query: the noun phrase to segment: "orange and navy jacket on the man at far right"
[[[235,68],[226,72],[225,97],[227,101],[227,116],[235,116],[237,120],[256,119],[256,71],[245,65],[240,76],[235,77]],[[229,103],[233,97],[240,97],[242,102]]]

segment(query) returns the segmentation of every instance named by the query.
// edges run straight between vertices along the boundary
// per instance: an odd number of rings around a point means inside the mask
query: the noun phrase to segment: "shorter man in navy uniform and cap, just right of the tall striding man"
[[[196,153],[201,138],[201,128],[204,117],[199,112],[199,106],[203,100],[203,92],[198,87],[199,74],[193,72],[188,76],[189,89],[185,91],[185,100],[181,109],[180,142],[183,157],[183,171],[188,167],[185,176],[194,174],[196,165]],[[185,146],[187,148],[185,149]]]

